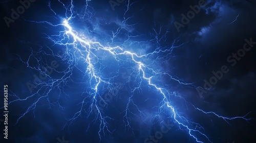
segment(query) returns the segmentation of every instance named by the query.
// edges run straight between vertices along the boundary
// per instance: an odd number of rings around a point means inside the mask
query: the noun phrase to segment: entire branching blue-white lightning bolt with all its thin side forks
[[[76,84],[81,84],[83,86],[88,86],[87,88],[84,87],[84,92],[80,93],[80,95],[83,98],[81,102],[79,102],[79,110],[74,112],[72,117],[67,118],[67,123],[63,127],[65,128],[66,126],[72,124],[78,117],[84,116],[84,112],[87,113],[87,117],[89,118],[90,115],[93,115],[93,110],[96,108],[96,115],[93,118],[94,123],[96,121],[99,121],[99,129],[98,129],[98,135],[99,139],[106,136],[106,133],[112,134],[113,129],[110,127],[110,121],[115,121],[113,117],[105,113],[103,110],[101,110],[101,107],[99,106],[100,100],[103,100],[101,96],[102,90],[106,90],[107,88],[116,88],[116,82],[115,80],[117,79],[117,76],[114,75],[113,73],[110,73],[108,76],[104,73],[106,72],[108,68],[108,64],[116,64],[119,67],[122,65],[124,66],[125,64],[131,65],[130,69],[133,69],[133,72],[135,74],[134,78],[134,83],[133,87],[129,90],[129,98],[127,99],[125,109],[123,110],[123,123],[125,126],[125,129],[131,129],[133,126],[131,125],[131,115],[135,115],[139,118],[143,118],[146,116],[145,112],[140,109],[138,105],[136,105],[134,101],[134,96],[136,91],[141,91],[142,86],[146,84],[146,87],[148,87],[150,90],[157,91],[156,98],[160,98],[161,101],[159,101],[159,111],[155,113],[153,117],[160,116],[161,112],[165,112],[168,114],[168,117],[172,118],[174,123],[177,125],[177,127],[180,130],[183,130],[187,132],[187,134],[196,140],[197,142],[211,142],[210,138],[206,133],[204,133],[204,128],[193,121],[191,121],[188,117],[183,115],[179,109],[176,107],[171,99],[173,98],[179,98],[181,99],[184,103],[188,104],[187,108],[189,109],[194,109],[197,110],[207,116],[214,115],[216,117],[221,118],[224,120],[227,124],[230,124],[230,120],[236,120],[237,118],[241,118],[245,121],[251,120],[251,118],[247,118],[248,114],[245,116],[238,116],[238,117],[224,117],[221,115],[218,115],[215,112],[211,111],[204,111],[202,109],[197,108],[196,106],[192,105],[191,103],[186,102],[186,100],[182,97],[179,96],[175,91],[171,92],[168,89],[164,88],[163,85],[159,83],[159,77],[161,76],[166,76],[173,82],[177,82],[179,85],[184,85],[184,86],[189,86],[196,88],[193,83],[186,83],[183,80],[180,80],[176,76],[172,76],[172,74],[168,72],[163,72],[160,71],[159,69],[154,68],[154,66],[151,66],[151,63],[157,63],[156,60],[162,60],[162,59],[169,59],[170,54],[172,54],[173,50],[176,48],[179,48],[183,45],[185,45],[187,42],[179,43],[180,37],[176,38],[173,42],[173,44],[169,47],[164,47],[160,48],[159,42],[160,41],[165,41],[166,40],[166,35],[168,33],[164,32],[162,33],[162,27],[160,30],[156,30],[155,28],[153,29],[154,33],[154,39],[150,41],[156,41],[157,47],[153,52],[149,53],[136,53],[133,52],[132,50],[127,50],[127,46],[125,46],[124,43],[121,43],[120,45],[117,46],[111,46],[111,44],[118,44],[114,42],[114,39],[118,36],[118,34],[121,33],[122,30],[130,31],[129,28],[131,28],[133,25],[127,25],[126,21],[129,20],[132,17],[125,18],[125,14],[129,11],[130,7],[134,5],[134,3],[130,3],[130,1],[127,1],[125,4],[127,6],[127,9],[124,12],[124,17],[123,21],[121,22],[121,28],[118,28],[116,31],[112,32],[112,38],[111,42],[108,44],[104,44],[103,42],[100,42],[100,40],[97,40],[95,38],[91,38],[90,36],[90,30],[88,30],[88,34],[85,34],[82,32],[83,30],[77,30],[74,25],[74,19],[76,17],[89,17],[91,18],[92,12],[90,12],[89,9],[92,9],[88,5],[89,1],[86,1],[86,5],[84,6],[85,12],[84,14],[78,14],[74,10],[74,4],[73,1],[71,1],[71,4],[69,6],[66,6],[62,2],[58,1],[65,9],[66,9],[66,17],[62,19],[60,23],[53,24],[52,22],[49,21],[33,21],[33,20],[28,20],[30,22],[36,22],[36,23],[41,23],[43,25],[49,25],[53,28],[60,27],[60,29],[63,29],[58,32],[56,35],[47,35],[47,38],[50,41],[54,42],[54,45],[60,45],[60,46],[66,46],[66,49],[63,50],[65,54],[62,56],[54,54],[53,50],[49,47],[51,54],[47,54],[47,52],[40,51],[40,52],[33,52],[31,49],[31,55],[29,56],[28,60],[23,60],[21,57],[19,57],[19,60],[22,61],[23,63],[27,64],[28,67],[38,70],[39,73],[42,73],[42,75],[46,76],[48,79],[47,81],[41,81],[36,85],[34,88],[39,88],[36,93],[33,93],[31,96],[27,98],[19,98],[18,96],[14,95],[16,97],[16,100],[10,102],[10,104],[17,102],[17,101],[28,101],[30,99],[36,98],[35,102],[33,102],[26,112],[20,116],[16,122],[20,120],[20,118],[24,117],[27,113],[30,111],[35,111],[37,105],[39,102],[43,99],[47,99],[50,105],[58,105],[61,109],[65,110],[65,107],[60,105],[58,102],[50,102],[50,93],[53,92],[53,90],[58,90],[58,99],[61,97],[62,94],[66,94],[68,97],[69,94],[66,93],[63,90],[63,86],[69,86],[69,81],[72,81]],[[50,10],[53,12],[54,15],[56,15],[57,12],[55,12],[51,8],[51,2],[49,1],[48,6]],[[239,16],[239,15],[238,15]],[[238,17],[237,16],[237,17]],[[237,19],[237,18],[236,18]],[[235,21],[235,20],[234,20]],[[233,21],[233,22],[234,22]],[[232,23],[232,22],[231,22]],[[162,36],[161,36],[162,35]],[[129,36],[128,39],[125,40],[125,42],[130,41],[133,37],[137,36]],[[131,38],[131,39],[130,39]],[[44,61],[41,58],[36,58],[34,54],[39,54],[42,53],[47,56],[53,56],[53,57],[58,57],[62,59],[63,61],[67,61],[67,68],[57,70],[52,68],[53,71],[56,73],[62,75],[60,78],[53,78],[49,74],[47,74],[46,70],[43,70],[43,68],[40,68],[42,65],[37,65],[36,67],[33,67],[30,65],[30,60],[34,58],[38,63],[40,61]],[[163,56],[164,55],[164,56]],[[151,60],[150,57],[156,57],[156,60]],[[111,61],[110,62],[105,62],[104,60],[108,59]],[[150,61],[148,62],[148,59]],[[82,63],[82,64],[81,64]],[[44,64],[47,64],[45,62]],[[125,66],[124,66],[125,67]],[[78,71],[75,71],[77,69]],[[110,69],[109,69],[110,70]],[[81,81],[77,82],[72,80],[73,77],[75,76],[75,72],[81,72],[84,73],[84,75],[80,78],[82,78]],[[132,77],[129,77],[132,78]],[[37,95],[40,94],[42,96],[37,97]],[[109,106],[110,102],[103,100],[106,106]],[[135,107],[135,110],[132,109],[132,107]],[[89,108],[89,112],[87,112],[86,108]],[[90,125],[89,125],[90,127]],[[88,127],[88,130],[89,130]],[[133,132],[133,134],[135,134]]]

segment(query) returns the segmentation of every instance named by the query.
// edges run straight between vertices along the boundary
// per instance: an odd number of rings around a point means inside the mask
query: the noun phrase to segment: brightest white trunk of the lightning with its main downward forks
[[[172,116],[173,120],[175,121],[175,123],[177,124],[177,126],[179,126],[180,129],[183,129],[183,130],[186,130],[188,132],[188,134],[193,137],[197,142],[202,142],[200,141],[200,139],[198,139],[197,136],[201,136],[201,137],[204,137],[206,138],[209,142],[210,142],[210,139],[207,137],[207,135],[205,135],[200,129],[197,129],[197,128],[194,128],[194,127],[197,127],[198,128],[202,128],[200,127],[200,125],[194,123],[194,122],[190,122],[189,120],[186,120],[186,118],[184,118],[183,116],[179,115],[179,113],[176,111],[176,109],[172,106],[171,102],[168,100],[169,96],[175,96],[175,94],[170,94],[168,93],[167,90],[165,90],[164,88],[161,88],[160,86],[152,83],[152,78],[154,77],[158,77],[158,75],[168,75],[171,79],[175,80],[175,81],[178,81],[180,84],[184,84],[184,85],[190,85],[188,83],[183,83],[181,81],[179,81],[178,79],[174,79],[172,76],[170,76],[168,73],[163,73],[163,72],[157,72],[155,71],[155,69],[151,68],[150,66],[148,65],[145,65],[141,62],[141,57],[146,57],[147,55],[152,55],[152,54],[156,54],[156,53],[159,53],[159,52],[162,52],[162,51],[154,51],[152,53],[149,53],[149,54],[145,54],[145,55],[137,55],[136,53],[132,53],[130,51],[125,51],[124,49],[122,49],[121,47],[117,46],[117,47],[104,47],[102,46],[99,42],[91,42],[91,41],[87,41],[87,40],[84,40],[83,38],[80,38],[79,36],[77,36],[77,32],[76,31],[73,31],[72,27],[69,25],[68,21],[65,20],[63,22],[63,25],[67,28],[66,29],[66,34],[67,35],[71,35],[73,38],[74,38],[74,41],[78,41],[81,43],[82,46],[84,46],[85,48],[88,46],[89,49],[87,50],[88,52],[88,55],[86,56],[86,63],[88,64],[88,68],[87,70],[89,71],[89,75],[90,75],[90,79],[91,80],[96,80],[97,84],[92,88],[95,90],[95,96],[93,97],[93,103],[96,105],[96,108],[98,110],[98,115],[99,115],[99,119],[101,121],[101,124],[100,124],[100,128],[99,128],[99,137],[101,137],[101,132],[104,132],[103,130],[106,129],[107,131],[111,132],[109,129],[108,129],[108,123],[106,122],[105,118],[110,118],[109,116],[104,116],[103,113],[99,110],[99,107],[98,107],[98,104],[97,103],[97,95],[98,95],[98,86],[101,82],[103,83],[106,83],[106,84],[111,84],[110,81],[108,80],[104,80],[102,77],[100,77],[97,72],[97,69],[95,68],[95,65],[91,62],[91,58],[90,56],[91,55],[94,55],[96,56],[94,53],[92,53],[92,49],[94,50],[103,50],[103,51],[106,51],[106,52],[109,52],[116,60],[117,60],[117,63],[119,62],[119,60],[122,60],[121,58],[119,59],[118,57],[120,55],[122,56],[126,56],[125,61],[131,61],[133,62],[137,69],[138,72],[137,72],[137,77],[140,79],[140,82],[138,84],[137,87],[135,87],[131,94],[132,96],[129,98],[129,102],[127,103],[127,106],[126,106],[126,109],[125,109],[125,115],[124,115],[124,123],[125,123],[125,126],[128,126],[130,128],[132,128],[130,126],[130,123],[129,123],[129,117],[127,115],[127,112],[129,112],[129,106],[130,106],[130,103],[133,102],[132,98],[133,98],[133,92],[136,90],[136,89],[140,89],[141,87],[141,84],[143,81],[146,81],[148,85],[152,86],[155,88],[155,90],[157,90],[162,96],[162,105],[159,107],[160,110],[162,110],[161,108],[163,108],[164,106],[166,108],[169,109],[169,113],[170,113],[170,116]],[[95,49],[95,45],[97,46],[96,49]],[[172,48],[171,48],[172,49]],[[166,50],[167,52],[170,52],[170,50]],[[166,52],[165,51],[165,52]],[[147,72],[147,73],[145,73]],[[151,77],[147,77],[146,75],[153,75]],[[154,89],[153,89],[154,90]],[[134,103],[133,103],[134,104]],[[92,109],[93,109],[93,104],[91,105]],[[195,108],[195,107],[194,107]],[[213,113],[215,114],[214,112],[204,112],[203,110],[201,109],[198,109],[198,108],[195,108],[199,111],[202,111],[203,113],[205,114],[210,114],[210,113]],[[137,110],[143,114],[143,111],[140,111],[140,109],[137,107]],[[90,113],[92,113],[93,111],[91,110]],[[157,115],[157,114],[156,114]],[[217,114],[215,114],[217,115]],[[222,116],[219,116],[217,115],[218,117],[222,117]],[[232,118],[228,118],[228,117],[222,117],[225,121],[226,120],[232,120]],[[244,120],[247,120],[245,117],[236,117],[236,118],[244,118]],[[72,118],[73,120],[74,118]],[[189,127],[189,125],[193,125],[195,124],[196,126],[191,126]],[[196,136],[197,134],[197,136]]]

